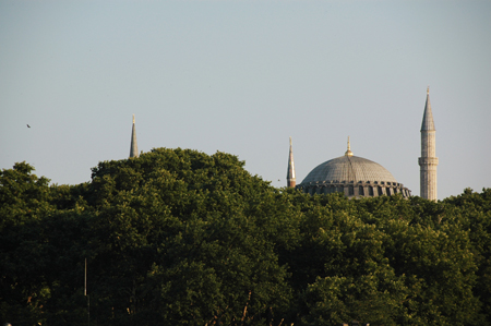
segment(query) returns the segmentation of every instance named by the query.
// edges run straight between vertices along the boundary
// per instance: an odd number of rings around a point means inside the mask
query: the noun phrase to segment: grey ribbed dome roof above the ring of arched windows
[[[359,156],[344,155],[319,165],[303,179],[302,183],[343,181],[397,182],[394,176],[380,164]]]

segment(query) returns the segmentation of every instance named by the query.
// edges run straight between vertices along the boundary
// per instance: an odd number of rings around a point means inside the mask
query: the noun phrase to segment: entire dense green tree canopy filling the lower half
[[[77,185],[33,170],[0,172],[0,322],[491,324],[490,189],[311,196],[180,148]]]

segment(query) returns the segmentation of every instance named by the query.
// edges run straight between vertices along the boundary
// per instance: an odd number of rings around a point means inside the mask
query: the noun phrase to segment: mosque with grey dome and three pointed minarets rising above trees
[[[136,145],[136,131],[131,133],[130,157],[139,157]],[[427,102],[421,123],[421,157],[420,166],[420,196],[436,201],[436,166],[435,157],[435,129],[430,104],[430,87],[427,88]],[[378,162],[355,156],[350,149],[345,155],[330,159],[315,167],[300,184],[296,184],[294,152],[290,137],[288,157],[287,186],[297,188],[309,194],[344,193],[347,197],[376,197],[382,195],[400,194],[409,197],[411,191],[392,176],[392,173]]]

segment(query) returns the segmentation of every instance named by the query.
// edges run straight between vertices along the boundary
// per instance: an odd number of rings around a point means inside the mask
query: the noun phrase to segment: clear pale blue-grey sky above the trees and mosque
[[[91,180],[139,149],[237,155],[286,185],[344,155],[419,195],[430,86],[439,198],[491,186],[491,1],[0,0],[0,168]],[[27,124],[31,128],[27,128]]]

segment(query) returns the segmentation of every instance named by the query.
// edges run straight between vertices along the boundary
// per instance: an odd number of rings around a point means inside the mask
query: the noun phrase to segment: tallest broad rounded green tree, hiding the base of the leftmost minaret
[[[85,198],[97,215],[101,321],[279,324],[291,291],[276,252],[288,242],[278,196],[223,153],[158,148],[100,162]]]

